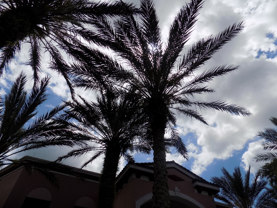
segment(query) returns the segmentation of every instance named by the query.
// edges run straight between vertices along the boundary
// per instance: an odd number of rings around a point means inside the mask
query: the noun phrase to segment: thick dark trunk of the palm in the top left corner
[[[24,40],[31,30],[29,17],[24,12],[7,10],[0,16],[0,49]]]

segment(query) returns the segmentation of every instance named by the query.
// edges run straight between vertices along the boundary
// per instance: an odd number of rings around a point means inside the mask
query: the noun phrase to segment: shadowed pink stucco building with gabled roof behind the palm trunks
[[[29,156],[22,159],[44,161]],[[214,201],[218,185],[174,161],[166,162],[166,166],[172,208],[232,208]],[[39,172],[29,175],[22,166],[3,168],[0,170],[0,208],[96,208],[99,173],[80,170],[84,180],[55,173],[59,178],[59,190]],[[114,208],[151,208],[153,179],[153,163],[127,164],[117,176]]]

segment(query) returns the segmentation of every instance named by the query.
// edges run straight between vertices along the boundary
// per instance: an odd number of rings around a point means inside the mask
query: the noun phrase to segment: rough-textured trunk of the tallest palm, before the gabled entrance
[[[166,154],[164,146],[164,133],[167,116],[164,107],[156,107],[152,111],[151,129],[153,133],[154,155],[154,185],[153,207],[169,208],[169,190],[167,184]]]

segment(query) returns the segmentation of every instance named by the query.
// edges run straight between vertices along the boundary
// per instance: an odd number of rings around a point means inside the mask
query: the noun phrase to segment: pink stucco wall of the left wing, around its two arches
[[[13,175],[12,175],[13,174]],[[28,175],[27,172],[21,168],[14,173],[7,175],[3,180],[14,181],[11,179],[14,175],[18,175],[18,179],[12,187],[8,198],[5,203],[0,207],[5,208],[20,208],[28,195],[28,193],[37,187],[46,187],[52,194],[52,200],[49,208],[68,208],[74,207],[78,198],[82,196],[91,197],[95,203],[98,202],[98,187],[99,183],[92,181],[81,181],[79,179],[57,174],[60,183],[60,189],[57,190],[45,179],[45,177],[38,172]],[[1,181],[2,182],[2,181]],[[0,189],[0,198],[2,198],[3,190]],[[0,200],[1,201],[1,200]]]

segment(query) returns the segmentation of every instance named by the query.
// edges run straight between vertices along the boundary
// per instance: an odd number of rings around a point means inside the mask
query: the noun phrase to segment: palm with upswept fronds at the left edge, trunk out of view
[[[37,107],[46,99],[46,87],[49,77],[42,79],[40,86],[35,86],[27,97],[24,86],[27,82],[26,75],[21,72],[12,84],[12,88],[5,98],[0,100],[0,168],[6,165],[25,166],[31,173],[38,170],[46,176],[52,185],[59,187],[58,179],[51,170],[58,170],[78,176],[69,166],[61,163],[46,161],[36,162],[30,160],[13,159],[14,155],[23,151],[38,149],[48,146],[69,146],[82,144],[76,136],[70,137],[69,126],[57,120],[59,112],[65,105],[59,105],[50,112],[36,117]],[[56,136],[57,134],[63,136]],[[66,134],[66,135],[65,135]]]

